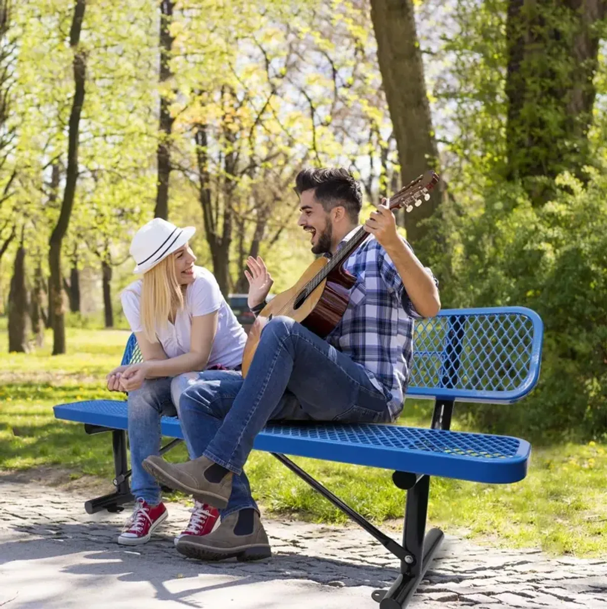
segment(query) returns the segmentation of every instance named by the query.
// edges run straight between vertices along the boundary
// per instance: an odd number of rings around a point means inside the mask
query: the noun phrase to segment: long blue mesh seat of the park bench
[[[55,406],[55,417],[127,429],[127,403],[90,400]],[[183,438],[176,417],[162,418],[162,434]],[[271,423],[254,448],[387,470],[473,482],[518,482],[527,474],[529,442],[503,435],[384,424]]]

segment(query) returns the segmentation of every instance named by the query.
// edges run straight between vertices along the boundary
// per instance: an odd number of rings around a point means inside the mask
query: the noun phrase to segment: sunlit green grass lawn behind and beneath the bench
[[[0,326],[1,327],[1,326]],[[103,385],[120,361],[128,333],[68,329],[68,354],[50,356],[52,337],[32,354],[6,353],[0,331],[0,469],[57,465],[72,477],[113,474],[105,434],[86,436],[82,425],[57,421],[52,406],[116,398]],[[524,407],[521,406],[513,407]],[[427,426],[428,403],[407,403],[401,424]],[[459,425],[455,421],[454,428]],[[513,435],[520,434],[516,430]],[[186,458],[180,446],[172,460]],[[402,518],[404,493],[390,472],[312,459],[296,459],[345,501],[373,521]],[[260,503],[274,513],[325,523],[344,516],[268,454],[254,452],[247,468]],[[538,547],[552,554],[607,554],[607,445],[567,443],[533,450],[527,478],[512,485],[484,485],[434,478],[429,519],[446,532],[510,547]]]

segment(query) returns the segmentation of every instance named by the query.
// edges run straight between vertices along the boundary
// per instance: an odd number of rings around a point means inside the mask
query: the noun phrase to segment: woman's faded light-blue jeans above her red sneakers
[[[150,505],[161,500],[161,488],[144,470],[142,462],[150,455],[160,453],[160,420],[163,415],[175,417],[174,404],[198,372],[159,379],[148,379],[140,389],[128,394],[128,442],[131,450],[131,493]],[[191,456],[191,455],[190,455]]]

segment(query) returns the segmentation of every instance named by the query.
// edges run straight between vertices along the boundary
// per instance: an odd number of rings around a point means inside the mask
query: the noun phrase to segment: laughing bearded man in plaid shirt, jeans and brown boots
[[[312,252],[331,256],[352,238],[361,188],[345,169],[306,169],[296,178]],[[187,463],[148,457],[159,481],[222,510],[221,524],[204,537],[184,536],[177,549],[203,560],[253,560],[271,554],[243,466],[268,420],[386,423],[403,408],[412,358],[413,319],[440,310],[437,282],[380,206],[365,224],[371,233],[345,261],[357,277],[344,317],[319,338],[288,317],[263,327],[246,379],[215,371],[179,400],[190,454]],[[271,287],[261,259],[249,259],[249,306],[259,312]],[[260,320],[251,331],[260,331]]]

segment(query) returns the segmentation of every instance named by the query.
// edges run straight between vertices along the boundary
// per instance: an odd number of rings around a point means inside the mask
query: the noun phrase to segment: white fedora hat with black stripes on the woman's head
[[[164,260],[192,238],[194,227],[178,228],[162,218],[154,218],[142,226],[131,242],[130,254],[137,266],[133,273],[139,275]]]

